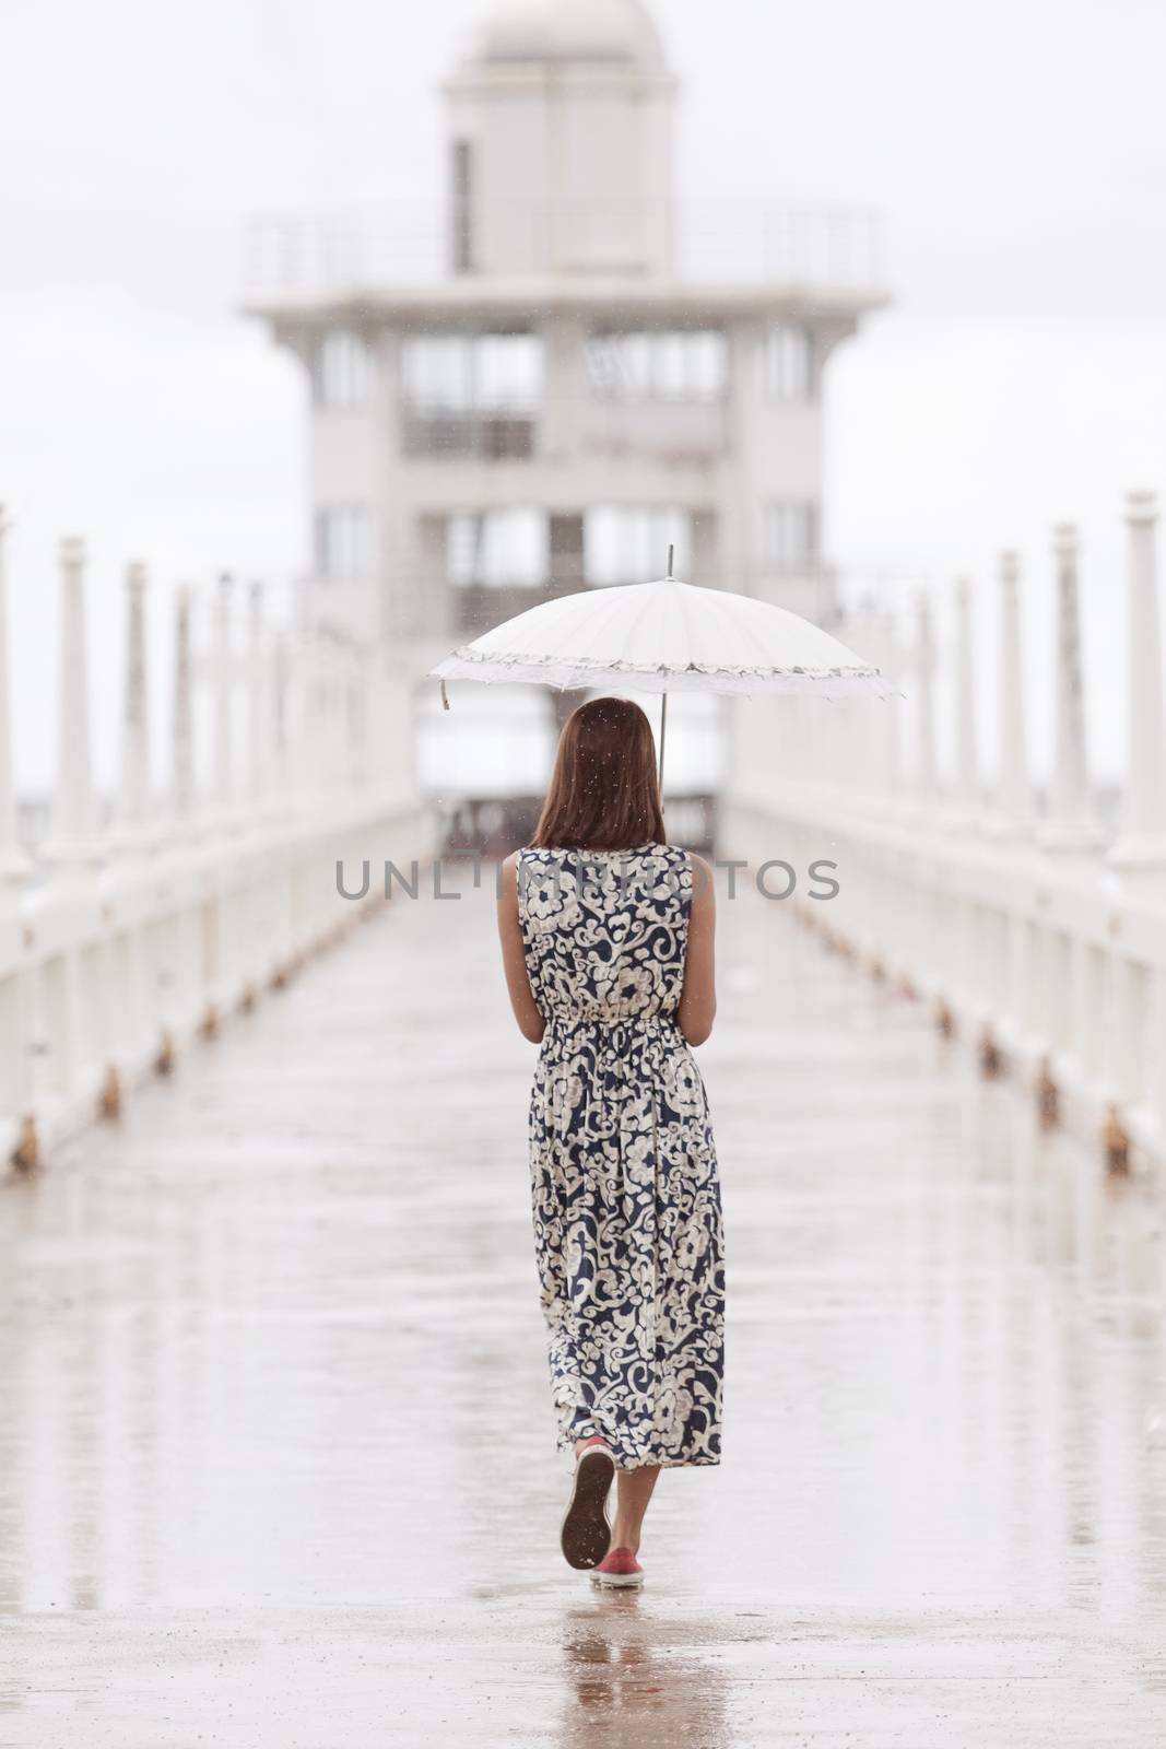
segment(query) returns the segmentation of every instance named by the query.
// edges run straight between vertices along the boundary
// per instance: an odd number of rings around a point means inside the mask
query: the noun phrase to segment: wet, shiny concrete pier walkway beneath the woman
[[[0,1189],[0,1744],[1150,1746],[1161,1214],[720,902],[725,1460],[558,1557],[531,1048],[397,901]]]

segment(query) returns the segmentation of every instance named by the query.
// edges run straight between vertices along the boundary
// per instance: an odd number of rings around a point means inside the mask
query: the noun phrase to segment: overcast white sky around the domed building
[[[52,752],[52,554],[93,546],[103,763],[121,572],[157,609],[306,553],[295,369],[233,311],[257,210],[427,196],[477,0],[7,0],[0,21],[0,500],[17,759]],[[1047,532],[1086,537],[1093,738],[1121,763],[1121,495],[1166,490],[1166,7],[1159,0],[668,0],[694,196],[888,217],[895,306],[829,374],[827,540],[977,582],[1019,546],[1038,747]],[[986,703],[991,687],[984,687]],[[991,724],[984,747],[991,752]]]

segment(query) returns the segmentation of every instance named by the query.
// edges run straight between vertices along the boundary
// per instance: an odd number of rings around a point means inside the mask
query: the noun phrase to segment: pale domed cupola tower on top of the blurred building
[[[675,80],[642,0],[503,0],[446,96],[456,271],[670,271]]]

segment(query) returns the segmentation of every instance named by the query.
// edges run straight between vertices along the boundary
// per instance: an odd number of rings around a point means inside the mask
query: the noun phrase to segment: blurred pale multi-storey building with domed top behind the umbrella
[[[670,546],[829,616],[820,385],[881,303],[871,215],[685,206],[640,0],[493,9],[444,101],[441,215],[252,236],[252,308],[313,385],[311,617],[423,675]]]

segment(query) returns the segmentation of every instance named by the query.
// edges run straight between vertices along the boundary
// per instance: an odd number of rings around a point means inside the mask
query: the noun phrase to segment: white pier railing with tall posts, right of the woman
[[[1000,565],[1000,773],[979,780],[968,591],[956,596],[954,750],[940,785],[930,603],[902,649],[886,612],[850,640],[907,703],[748,701],[725,847],[802,874],[837,864],[839,894],[792,902],[888,990],[930,1000],[986,1076],[1016,1074],[1045,1123],[1098,1139],[1114,1170],[1166,1156],[1166,728],[1156,505],[1128,500],[1128,771],[1105,845],[1086,770],[1077,539],[1054,535],[1056,764],[1042,817],[1026,757],[1026,666],[1014,554]],[[906,728],[911,728],[911,745]],[[767,876],[781,892],[788,878]],[[795,992],[787,995],[795,1000]]]

